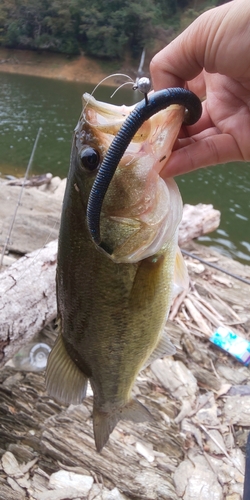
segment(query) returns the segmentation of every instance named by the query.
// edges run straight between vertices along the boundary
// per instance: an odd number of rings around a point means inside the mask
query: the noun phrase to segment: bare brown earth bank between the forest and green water
[[[117,68],[112,65],[112,71],[105,70],[105,63],[103,66],[100,62],[84,55],[69,58],[64,54],[0,47],[1,73],[38,76],[97,85],[110,74],[124,72],[124,69],[121,70],[118,67],[118,63]],[[134,73],[134,71],[132,72]],[[117,77],[112,77],[103,84],[116,86],[117,83]]]

